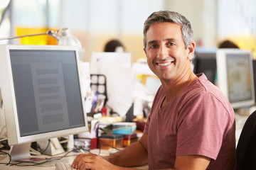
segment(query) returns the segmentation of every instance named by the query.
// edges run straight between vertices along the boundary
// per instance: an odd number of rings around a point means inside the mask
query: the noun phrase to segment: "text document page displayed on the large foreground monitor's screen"
[[[68,108],[61,64],[31,64],[39,130],[68,125]],[[48,124],[46,126],[46,124]]]

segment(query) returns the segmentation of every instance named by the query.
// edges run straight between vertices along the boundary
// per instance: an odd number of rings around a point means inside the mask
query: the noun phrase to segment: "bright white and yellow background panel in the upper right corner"
[[[232,4],[232,6],[230,5]],[[256,59],[256,1],[218,1],[218,39],[251,50]]]

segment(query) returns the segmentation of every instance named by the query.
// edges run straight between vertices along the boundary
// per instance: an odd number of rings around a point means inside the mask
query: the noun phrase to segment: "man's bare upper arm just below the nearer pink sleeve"
[[[206,170],[210,164],[210,158],[201,155],[191,156],[176,156],[174,164],[175,170]],[[161,169],[161,170],[174,170],[174,169]],[[160,169],[159,169],[160,170]]]

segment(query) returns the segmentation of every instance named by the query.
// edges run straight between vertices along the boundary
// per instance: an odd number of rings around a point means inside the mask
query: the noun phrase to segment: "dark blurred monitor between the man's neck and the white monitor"
[[[215,84],[216,67],[215,49],[201,49],[195,51],[193,58],[193,72],[195,74],[204,73],[207,79]]]

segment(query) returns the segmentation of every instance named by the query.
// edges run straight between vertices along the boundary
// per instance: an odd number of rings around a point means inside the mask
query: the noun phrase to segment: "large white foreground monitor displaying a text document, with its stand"
[[[0,87],[12,159],[31,142],[86,132],[78,49],[0,45]]]

